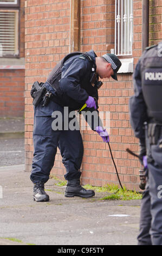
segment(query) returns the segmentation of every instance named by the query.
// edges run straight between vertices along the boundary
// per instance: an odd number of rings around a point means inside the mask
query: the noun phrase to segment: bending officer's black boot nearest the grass
[[[67,181],[64,196],[66,197],[93,197],[95,195],[93,190],[85,190],[80,185],[80,179],[73,179]]]

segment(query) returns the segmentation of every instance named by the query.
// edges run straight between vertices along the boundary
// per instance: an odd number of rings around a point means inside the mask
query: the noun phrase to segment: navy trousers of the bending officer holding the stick
[[[52,103],[53,110],[59,111],[64,115],[64,108]],[[39,107],[35,111],[34,117],[34,157],[30,179],[31,181],[47,182],[49,179],[50,170],[54,166],[55,155],[57,148],[60,149],[62,162],[66,168],[64,178],[66,180],[78,179],[81,176],[80,167],[83,157],[83,142],[80,130],[53,130],[52,123],[55,118],[52,118],[51,109]],[[53,110],[51,112],[53,112]],[[68,119],[68,123],[72,118]],[[62,120],[63,121],[63,120]],[[67,119],[66,119],[67,121]],[[64,127],[64,126],[63,126]],[[63,128],[62,127],[62,128]]]

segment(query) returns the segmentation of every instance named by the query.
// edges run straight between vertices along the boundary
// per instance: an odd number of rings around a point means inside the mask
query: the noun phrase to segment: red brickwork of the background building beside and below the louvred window
[[[24,0],[21,0],[20,8],[20,58],[24,57]],[[13,59],[12,59],[13,60]],[[10,64],[6,66],[18,65]],[[4,65],[1,62],[0,66]],[[24,69],[0,68],[0,117],[24,117]]]

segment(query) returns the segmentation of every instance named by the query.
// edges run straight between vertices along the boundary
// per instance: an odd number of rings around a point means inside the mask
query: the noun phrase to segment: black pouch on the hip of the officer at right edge
[[[148,138],[151,145],[155,145],[162,133],[162,124],[150,123],[148,124]]]

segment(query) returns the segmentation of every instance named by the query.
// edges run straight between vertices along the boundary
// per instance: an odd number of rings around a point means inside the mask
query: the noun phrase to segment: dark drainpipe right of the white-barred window
[[[149,39],[149,0],[142,0],[142,52],[148,46]]]

